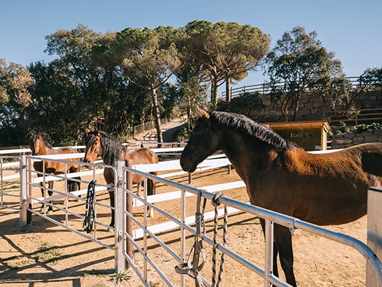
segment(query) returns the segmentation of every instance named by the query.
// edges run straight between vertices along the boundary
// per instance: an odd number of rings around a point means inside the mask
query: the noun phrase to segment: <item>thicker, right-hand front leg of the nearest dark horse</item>
[[[290,285],[297,286],[293,272],[292,233],[289,228],[282,225],[275,224],[274,226],[275,242],[278,247],[280,263],[285,273],[285,279],[287,279],[287,283]]]

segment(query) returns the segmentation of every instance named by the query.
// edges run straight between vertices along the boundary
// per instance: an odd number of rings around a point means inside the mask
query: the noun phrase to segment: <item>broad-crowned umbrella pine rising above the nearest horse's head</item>
[[[217,88],[224,81],[230,84],[231,80],[239,81],[247,76],[264,58],[269,39],[250,25],[194,20],[184,27],[180,45],[185,71],[211,84],[211,104],[216,107]]]

